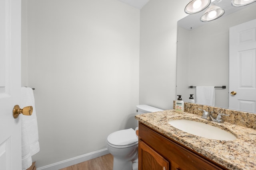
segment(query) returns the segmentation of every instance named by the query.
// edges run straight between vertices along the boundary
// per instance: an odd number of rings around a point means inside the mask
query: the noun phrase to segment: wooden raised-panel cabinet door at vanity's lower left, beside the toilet
[[[169,162],[139,140],[139,170],[169,170]]]

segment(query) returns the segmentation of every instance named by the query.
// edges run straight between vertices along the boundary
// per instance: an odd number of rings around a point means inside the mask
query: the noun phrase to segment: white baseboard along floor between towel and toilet
[[[103,156],[105,154],[109,154],[108,149],[102,149],[102,150],[98,150],[98,151],[95,151],[95,152],[90,152],[88,154],[84,154],[84,155],[81,155],[81,156],[77,156],[77,157],[74,157],[74,158],[70,158],[70,159],[67,159],[67,160],[56,162],[54,164],[46,165],[46,166],[39,167],[39,168],[36,168],[36,169],[37,170],[59,170],[59,169],[62,169],[62,168],[66,168],[68,166],[72,166],[74,164],[79,164],[79,163],[84,162],[86,160],[90,160],[90,159],[93,159],[93,158],[97,158],[99,156]]]

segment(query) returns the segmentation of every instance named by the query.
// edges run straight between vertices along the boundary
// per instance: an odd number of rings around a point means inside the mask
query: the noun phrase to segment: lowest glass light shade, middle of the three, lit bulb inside
[[[200,20],[203,22],[213,21],[223,16],[224,13],[225,13],[225,10],[212,4],[211,6],[209,6],[209,8],[207,8],[207,10],[201,16]]]

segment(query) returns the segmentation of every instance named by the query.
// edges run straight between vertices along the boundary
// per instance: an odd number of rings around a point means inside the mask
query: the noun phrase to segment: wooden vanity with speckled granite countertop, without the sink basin
[[[139,121],[139,170],[256,169],[256,130],[216,123],[174,110],[136,115]],[[203,122],[236,136],[232,141],[206,139],[168,124],[171,119]]]

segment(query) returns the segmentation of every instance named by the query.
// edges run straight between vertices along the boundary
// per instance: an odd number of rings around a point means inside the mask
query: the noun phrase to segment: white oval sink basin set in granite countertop
[[[228,131],[198,121],[178,119],[170,120],[168,123],[184,132],[207,139],[216,139],[221,141],[233,141],[236,139],[236,137]]]

